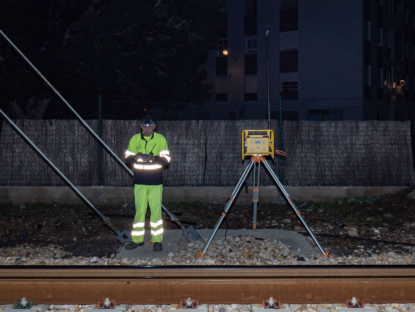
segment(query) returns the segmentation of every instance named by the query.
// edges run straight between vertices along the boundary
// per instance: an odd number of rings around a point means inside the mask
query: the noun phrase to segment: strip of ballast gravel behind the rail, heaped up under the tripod
[[[276,240],[256,240],[254,236],[238,235],[214,240],[208,246],[203,258],[199,251],[204,245],[199,241],[188,243],[167,258],[110,258],[73,257],[64,246],[19,245],[0,249],[0,265],[413,265],[415,248],[407,247],[406,252],[380,252],[364,250],[356,246],[351,255],[325,258],[319,250],[315,255],[294,255],[289,246]],[[297,250],[300,254],[301,250]]]

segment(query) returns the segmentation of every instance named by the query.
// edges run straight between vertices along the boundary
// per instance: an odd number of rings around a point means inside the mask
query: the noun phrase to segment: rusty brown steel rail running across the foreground
[[[0,304],[415,302],[415,265],[0,266]]]

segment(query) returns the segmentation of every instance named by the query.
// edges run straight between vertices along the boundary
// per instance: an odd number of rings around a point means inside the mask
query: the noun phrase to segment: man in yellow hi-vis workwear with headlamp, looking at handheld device
[[[153,250],[163,247],[163,221],[161,198],[163,195],[163,169],[168,168],[170,156],[164,136],[154,132],[156,122],[146,115],[141,120],[141,132],[134,135],[125,151],[125,164],[134,172],[135,216],[131,232],[132,242],[125,249],[132,250],[144,245],[144,221],[147,204],[150,207],[150,227]]]

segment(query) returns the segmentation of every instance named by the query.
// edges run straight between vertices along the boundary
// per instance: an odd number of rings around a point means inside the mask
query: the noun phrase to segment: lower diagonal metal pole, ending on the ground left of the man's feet
[[[56,171],[56,173],[58,173],[58,175],[63,179],[63,181],[65,181],[68,184],[68,186],[70,186],[72,188],[72,190],[85,203],[87,203],[93,210],[95,210],[96,213],[98,213],[98,215],[103,219],[104,224],[106,224],[109,228],[111,228],[111,230],[113,230],[118,235],[117,239],[121,243],[125,243],[125,242],[131,240],[131,237],[129,237],[129,233],[126,232],[125,230],[122,231],[122,232],[117,230],[117,228],[115,228],[115,226],[111,224],[110,218],[105,217],[105,215],[100,213],[98,211],[98,209],[95,208],[95,206],[90,201],[88,201],[88,199],[85,196],[83,196],[83,194],[78,190],[78,188],[76,188],[76,186],[74,186],[73,183],[71,181],[69,181],[68,178],[66,178],[66,176],[49,160],[49,158],[45,154],[42,153],[42,151],[26,136],[26,134],[24,134],[24,132],[1,109],[0,109],[0,113],[9,122],[9,124],[23,137],[23,139],[25,139],[27,141],[27,143],[29,143],[29,145],[32,146],[32,148],[35,151],[37,151],[37,153],[49,164],[49,166],[51,166],[52,169],[54,169],[54,171]],[[123,235],[125,235],[127,237],[127,239],[125,239],[123,237]]]

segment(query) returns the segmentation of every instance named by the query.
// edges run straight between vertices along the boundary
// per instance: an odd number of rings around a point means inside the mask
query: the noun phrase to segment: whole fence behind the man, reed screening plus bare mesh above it
[[[131,176],[75,120],[76,115],[61,99],[45,103],[16,101],[4,108],[76,186],[131,185]],[[68,103],[120,159],[129,139],[139,132],[144,114],[164,121],[156,131],[166,136],[172,155],[171,167],[164,171],[166,186],[235,186],[246,166],[241,158],[242,130],[268,129],[268,101],[195,104],[98,98]],[[413,104],[271,101],[276,149],[282,145],[288,153],[286,159],[270,160],[271,168],[291,186],[415,184]],[[44,114],[39,118],[42,105]],[[17,118],[19,114],[26,115]],[[0,148],[1,186],[66,185],[5,121]],[[261,185],[272,184],[264,172]]]

